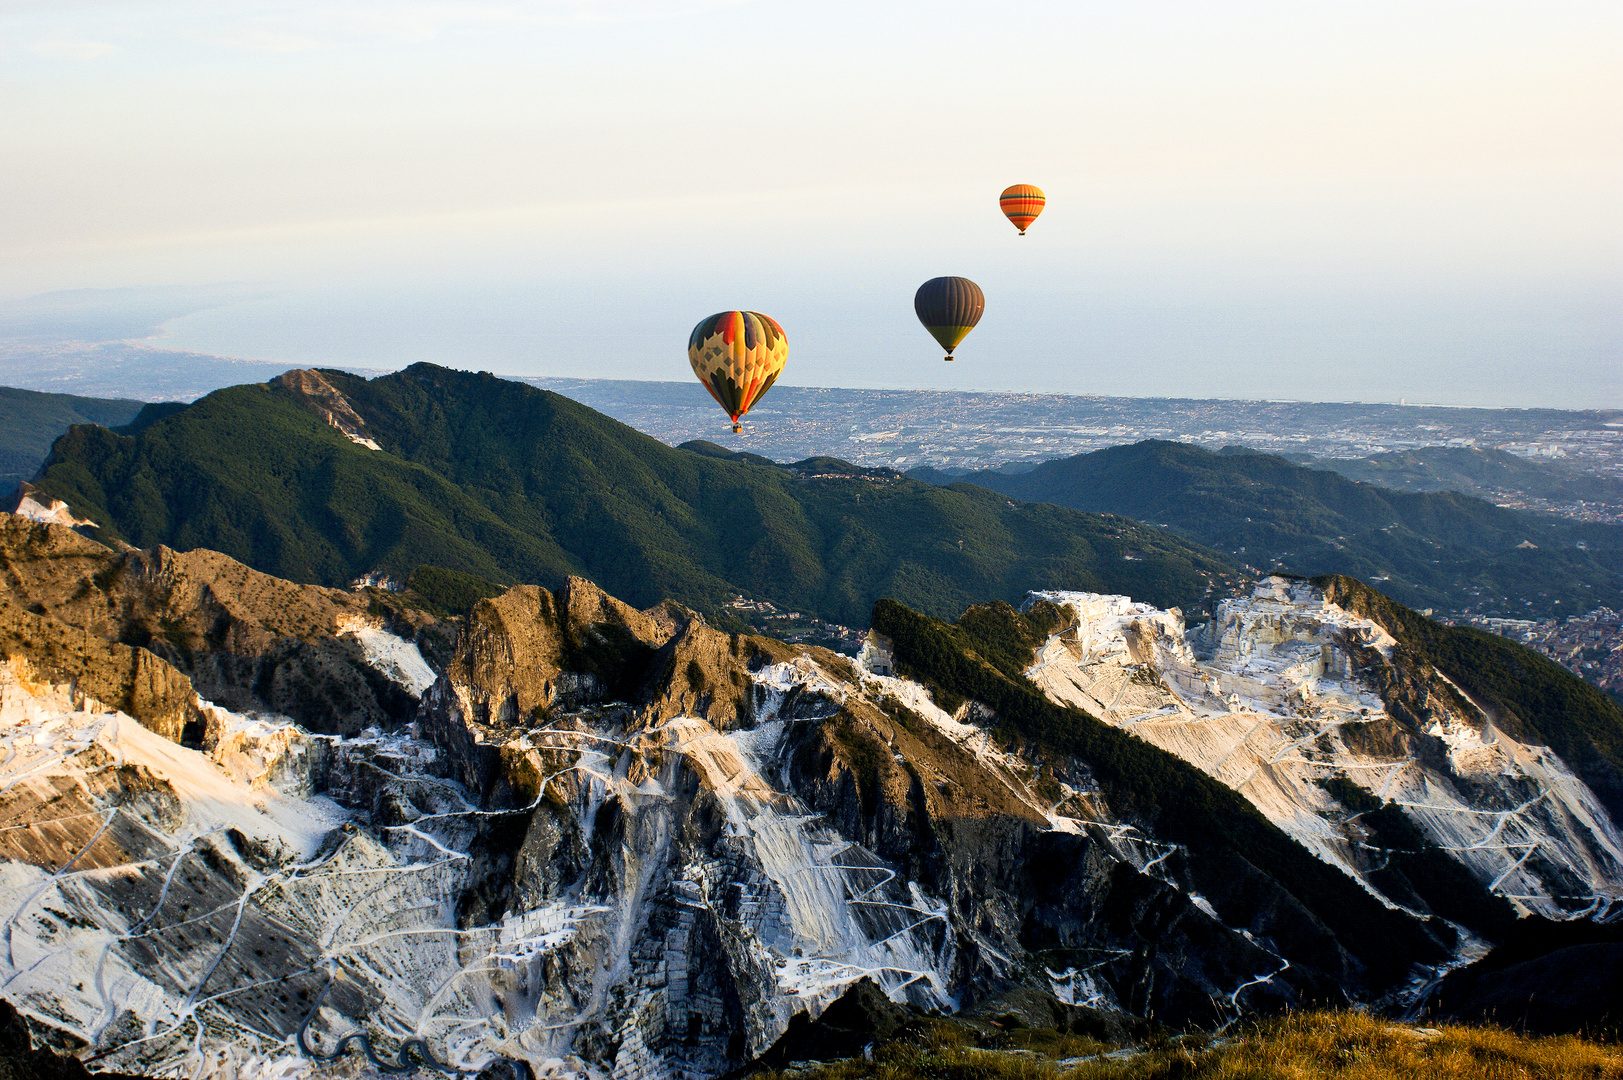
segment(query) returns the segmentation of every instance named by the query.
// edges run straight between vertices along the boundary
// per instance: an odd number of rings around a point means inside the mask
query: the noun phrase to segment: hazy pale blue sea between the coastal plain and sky
[[[998,291],[987,278],[987,317],[954,364],[917,325],[902,279],[885,297],[808,284],[737,304],[773,313],[789,333],[784,385],[1623,408],[1623,364],[1607,361],[1623,336],[1600,297],[1587,305],[1349,297],[1323,310],[1308,300],[1183,296],[1157,305],[1118,284]],[[1573,307],[1591,317],[1574,320]],[[291,291],[170,320],[153,344],[291,367],[428,361],[529,377],[667,380],[688,375],[687,335],[706,313],[648,297],[622,304],[589,283]]]

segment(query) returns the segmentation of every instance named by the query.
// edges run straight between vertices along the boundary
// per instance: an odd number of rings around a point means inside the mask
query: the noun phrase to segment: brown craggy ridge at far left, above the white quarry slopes
[[[211,551],[115,552],[16,515],[0,515],[0,580],[13,607],[62,627],[57,637],[71,637],[75,650],[83,643],[80,651],[118,661],[133,650],[123,666],[154,692],[179,692],[172,677],[154,674],[174,667],[211,702],[281,713],[329,734],[411,721],[417,695],[433,680],[417,646],[443,658],[454,633],[377,590],[295,585]],[[391,650],[401,654],[393,669],[385,656]],[[86,692],[128,705],[143,721],[153,711],[133,698]],[[161,723],[192,719],[166,713]]]

